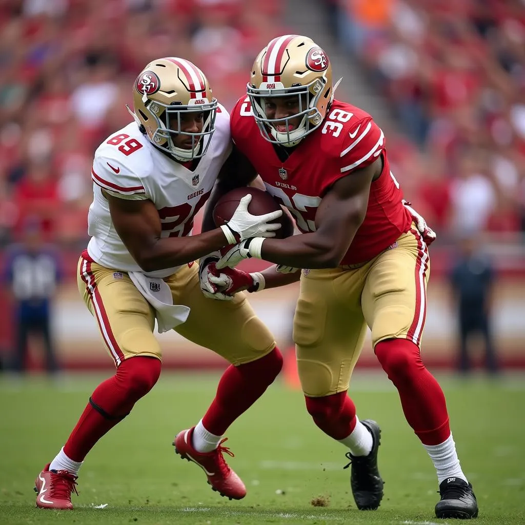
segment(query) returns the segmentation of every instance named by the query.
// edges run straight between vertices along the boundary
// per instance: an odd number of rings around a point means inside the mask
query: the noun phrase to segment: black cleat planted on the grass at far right
[[[472,485],[461,478],[444,479],[439,484],[441,499],[436,503],[436,516],[457,520],[478,517],[478,502]]]

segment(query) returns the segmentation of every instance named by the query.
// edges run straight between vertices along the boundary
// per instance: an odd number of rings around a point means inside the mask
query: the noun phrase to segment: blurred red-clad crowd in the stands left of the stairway
[[[257,53],[286,32],[280,9],[279,0],[2,0],[0,247],[37,219],[48,240],[83,249],[92,155],[130,121],[124,104],[139,72],[157,57],[192,60],[231,109]]]

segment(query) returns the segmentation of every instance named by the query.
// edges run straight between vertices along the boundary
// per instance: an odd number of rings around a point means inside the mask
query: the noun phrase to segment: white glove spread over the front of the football
[[[272,223],[271,221],[282,215],[282,209],[264,215],[252,215],[248,212],[250,201],[251,194],[248,193],[240,199],[239,205],[229,222],[220,227],[228,244],[236,244],[250,237],[275,237],[275,230],[281,227],[279,223]]]

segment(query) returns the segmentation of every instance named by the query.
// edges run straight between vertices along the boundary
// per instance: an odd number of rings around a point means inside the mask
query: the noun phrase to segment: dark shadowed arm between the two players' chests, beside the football
[[[219,171],[212,194],[206,202],[202,221],[203,232],[209,232],[216,227],[213,222],[213,208],[219,198],[234,188],[247,186],[252,183],[256,177],[257,172],[255,168],[246,156],[234,145],[232,153],[229,154],[226,162]]]

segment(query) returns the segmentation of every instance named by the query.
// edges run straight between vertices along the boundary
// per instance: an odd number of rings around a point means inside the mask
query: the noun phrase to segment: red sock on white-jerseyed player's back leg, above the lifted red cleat
[[[282,355],[274,348],[251,363],[230,365],[220,378],[217,394],[203,417],[208,432],[222,436],[227,428],[264,394],[282,367]]]

